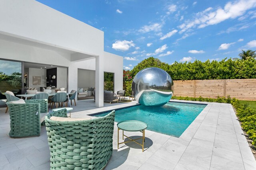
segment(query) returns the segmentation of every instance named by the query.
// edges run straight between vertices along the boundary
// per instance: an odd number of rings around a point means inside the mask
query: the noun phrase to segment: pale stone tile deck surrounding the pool
[[[230,104],[172,101],[208,105],[179,138],[146,130],[144,152],[133,142],[120,145],[121,148],[117,150],[115,123],[113,154],[106,170],[256,169],[256,160]],[[86,102],[77,102],[78,106],[73,107],[72,117],[88,117],[88,114],[137,103],[133,101],[96,108],[89,106],[89,100]],[[80,111],[83,107],[90,110]],[[5,108],[0,108],[0,170],[50,169],[50,151],[45,127],[41,127],[40,137],[12,139],[8,137],[9,114],[4,111]],[[139,132],[125,134],[134,138],[142,135]]]

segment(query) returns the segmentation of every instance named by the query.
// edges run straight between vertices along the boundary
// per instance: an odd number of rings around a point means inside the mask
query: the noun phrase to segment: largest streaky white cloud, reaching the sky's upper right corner
[[[208,25],[215,25],[228,19],[234,19],[242,16],[246,10],[256,7],[256,0],[238,0],[226,3],[224,9],[219,7],[213,11],[213,8],[207,8],[206,10],[196,14],[196,17],[192,21],[186,21],[178,27],[182,29],[180,33],[194,27],[203,28]]]

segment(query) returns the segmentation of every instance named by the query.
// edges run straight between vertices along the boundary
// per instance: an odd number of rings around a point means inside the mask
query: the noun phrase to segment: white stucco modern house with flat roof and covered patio
[[[123,58],[104,51],[103,31],[35,0],[0,4],[0,60],[66,67],[68,91],[78,88],[78,69],[95,70],[97,107],[104,72],[114,73],[114,92],[122,89]]]

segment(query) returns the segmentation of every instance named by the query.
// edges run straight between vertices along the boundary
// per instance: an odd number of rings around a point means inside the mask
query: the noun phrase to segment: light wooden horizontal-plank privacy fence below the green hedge
[[[217,98],[230,95],[256,101],[256,79],[174,80],[174,96]]]

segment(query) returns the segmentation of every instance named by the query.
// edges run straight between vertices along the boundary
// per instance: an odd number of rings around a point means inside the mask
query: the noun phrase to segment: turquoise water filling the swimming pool
[[[161,107],[142,105],[116,110],[115,121],[138,120],[148,124],[147,130],[180,137],[206,104],[168,102]],[[107,113],[94,115],[96,117]]]

